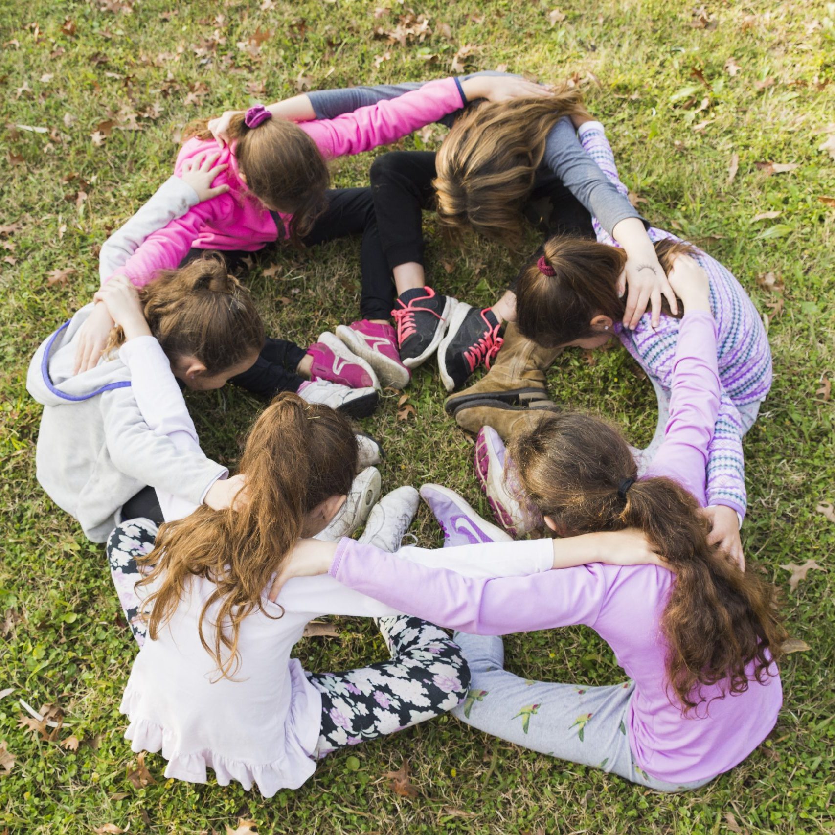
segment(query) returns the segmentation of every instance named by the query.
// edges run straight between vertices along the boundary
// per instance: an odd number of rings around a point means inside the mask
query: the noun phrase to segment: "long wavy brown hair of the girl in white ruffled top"
[[[306,514],[351,489],[357,456],[346,417],[296,394],[276,397],[246,440],[240,462],[246,476],[243,506],[215,511],[201,505],[185,519],[164,524],[154,550],[139,560],[154,566],[139,584],[159,584],[147,599],[151,640],[174,615],[190,579],[208,579],[215,590],[200,612],[200,642],[221,678],[235,676],[241,622],[264,610],[262,595],[301,536]],[[207,638],[205,620],[215,604],[220,605]]]

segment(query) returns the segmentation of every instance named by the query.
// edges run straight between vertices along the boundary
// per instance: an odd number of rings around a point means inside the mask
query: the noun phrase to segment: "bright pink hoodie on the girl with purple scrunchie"
[[[336,119],[300,122],[299,127],[316,142],[325,159],[332,159],[395,142],[463,104],[456,80],[443,78],[397,99],[377,102]],[[214,139],[189,139],[177,155],[175,174],[180,175],[187,159],[217,147]],[[215,178],[213,185],[226,183],[230,190],[193,206],[185,215],[149,235],[119,269],[134,285],[152,281],[157,270],[175,269],[192,247],[254,252],[279,237],[270,212],[240,179],[234,152],[227,146],[217,162],[228,163],[229,168]],[[290,217],[281,215],[281,220],[286,223]]]

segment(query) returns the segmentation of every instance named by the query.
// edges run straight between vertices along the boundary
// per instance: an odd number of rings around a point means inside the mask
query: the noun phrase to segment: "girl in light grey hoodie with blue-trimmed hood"
[[[187,164],[181,180],[172,177],[114,232],[102,247],[103,271],[118,271],[149,226],[164,225],[165,217],[184,210],[178,194],[191,193],[197,200],[210,197],[217,175],[213,161]],[[108,297],[124,295],[129,288],[128,279],[117,276],[99,291],[94,304],[107,310]],[[249,292],[228,274],[219,257],[162,271],[139,291],[139,300],[171,372],[186,387],[220,388],[258,361],[264,346],[261,317]],[[120,357],[123,333],[112,331],[104,358],[74,373],[80,331],[93,315],[94,304],[83,307],[38,347],[29,364],[27,388],[43,403],[38,482],[55,504],[78,519],[89,539],[104,542],[120,519],[143,516],[162,522],[154,488],[214,507],[225,501],[228,488],[222,480],[226,468],[206,458],[200,448],[181,451],[170,438],[148,431],[134,398],[130,370]],[[369,398],[372,405],[377,402],[372,388],[352,389],[324,380],[301,381],[298,390],[308,401],[331,402],[353,413],[367,413]],[[377,463],[377,443],[367,437],[360,443],[363,463]]]

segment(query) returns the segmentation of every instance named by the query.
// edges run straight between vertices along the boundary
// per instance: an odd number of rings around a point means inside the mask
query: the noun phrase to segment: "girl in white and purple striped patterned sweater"
[[[584,149],[625,194],[603,125],[582,119],[579,132]],[[592,349],[613,337],[620,339],[650,377],[658,396],[655,438],[642,453],[642,461],[647,463],[664,439],[682,321],[665,307],[659,326],[651,326],[649,316],[643,317],[635,330],[622,326],[624,301],[618,295],[618,281],[626,256],[599,224],[595,228],[600,243],[555,237],[524,267],[517,286],[517,323],[525,337],[545,347]],[[676,254],[686,252],[710,279],[721,394],[716,428],[707,447],[710,541],[741,560],[739,529],[746,512],[742,438],[757,419],[772,384],[766,332],[751,299],[724,266],[669,232],[651,228],[649,234],[665,269]]]

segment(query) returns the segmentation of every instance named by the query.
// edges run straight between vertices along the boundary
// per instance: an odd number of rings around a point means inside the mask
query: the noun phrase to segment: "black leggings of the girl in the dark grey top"
[[[387,265],[423,264],[423,210],[434,210],[434,151],[389,151],[371,166],[371,190],[383,254]],[[591,215],[562,180],[547,168],[536,174],[534,190],[524,210],[545,235],[595,238]]]

